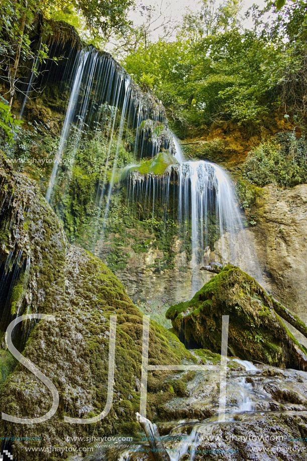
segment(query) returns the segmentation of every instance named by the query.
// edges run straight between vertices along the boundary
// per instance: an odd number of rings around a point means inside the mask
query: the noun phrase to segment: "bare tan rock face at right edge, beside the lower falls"
[[[264,280],[273,296],[307,320],[307,185],[262,188],[251,212]]]

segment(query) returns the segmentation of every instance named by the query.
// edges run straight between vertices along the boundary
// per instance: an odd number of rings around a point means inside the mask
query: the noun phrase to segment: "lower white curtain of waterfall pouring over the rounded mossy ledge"
[[[166,223],[170,216],[176,219],[178,238],[191,249],[192,295],[203,285],[199,268],[210,262],[213,253],[218,262],[237,264],[259,280],[257,257],[228,174],[206,160],[186,161],[175,137],[173,145],[174,164],[163,175],[142,175],[131,168],[127,192],[130,215],[137,218],[139,207],[153,221]],[[172,213],[170,190],[177,204]]]

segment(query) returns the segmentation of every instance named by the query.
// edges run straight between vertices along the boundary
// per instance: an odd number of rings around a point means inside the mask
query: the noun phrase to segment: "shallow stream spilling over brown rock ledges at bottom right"
[[[187,396],[167,404],[169,420],[158,427],[171,461],[305,459],[306,373],[255,366],[237,358],[229,364],[233,368],[227,373],[225,422],[219,422],[217,414],[219,372],[197,372]],[[246,398],[252,407],[247,407]],[[207,417],[200,417],[197,408],[208,408]],[[117,439],[96,448],[85,460],[149,461],[148,451],[141,436],[128,443]]]

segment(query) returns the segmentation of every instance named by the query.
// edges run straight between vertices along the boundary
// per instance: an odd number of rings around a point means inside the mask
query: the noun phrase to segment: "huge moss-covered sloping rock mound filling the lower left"
[[[6,447],[14,459],[35,461],[58,459],[47,452],[50,446],[78,443],[70,443],[67,436],[132,435],[139,429],[135,413],[140,411],[142,313],[105,264],[68,243],[58,218],[34,182],[14,172],[3,155],[0,209],[0,279],[9,287],[0,293],[0,319],[4,322],[0,328],[0,407],[9,415],[33,418],[45,415],[52,406],[51,392],[21,363],[14,362],[5,348],[6,327],[16,315],[43,313],[55,317],[55,321],[26,321],[13,339],[59,392],[59,407],[50,420],[14,424],[2,419],[0,437],[12,436],[14,441],[6,442]],[[111,411],[95,424],[65,423],[64,416],[90,418],[105,408],[110,315],[117,315]],[[151,322],[149,364],[179,364],[183,359],[194,361],[173,333]],[[168,375],[148,373],[148,417],[153,420],[160,416],[163,404],[174,397],[169,381],[172,376]],[[43,439],[38,442],[36,437],[41,434]],[[37,446],[46,450],[44,456],[40,451],[28,451]]]

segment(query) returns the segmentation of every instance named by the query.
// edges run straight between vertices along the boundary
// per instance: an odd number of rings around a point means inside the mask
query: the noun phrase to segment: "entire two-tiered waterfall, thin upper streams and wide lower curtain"
[[[256,257],[225,170],[209,161],[186,161],[179,141],[168,128],[161,102],[141,91],[108,53],[92,46],[64,51],[59,44],[51,46],[51,57],[66,53],[66,59],[49,63],[43,72],[40,69],[43,77],[38,82],[48,85],[58,79],[60,91],[68,94],[46,191],[51,206],[56,208],[60,194],[71,193],[74,168],[78,168],[77,153],[84,142],[101,135],[103,143],[91,203],[92,249],[95,242],[104,240],[109,211],[118,200],[119,183],[124,184],[120,179],[128,163],[123,163],[121,157],[124,150],[133,160],[125,179],[127,215],[132,220],[145,220],[161,232],[165,253],[170,250],[170,235],[176,235],[182,258],[177,258],[175,270],[185,271],[184,258],[188,261],[191,294],[204,283],[200,266],[213,259],[237,264],[256,276]],[[32,74],[27,97],[30,86],[35,85]],[[25,105],[26,100],[22,111]],[[137,169],[148,159],[155,165],[160,156],[165,156],[164,172],[141,174]],[[60,202],[60,217],[65,217],[67,202]]]

